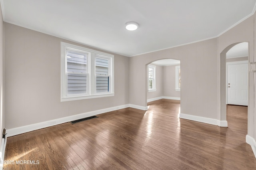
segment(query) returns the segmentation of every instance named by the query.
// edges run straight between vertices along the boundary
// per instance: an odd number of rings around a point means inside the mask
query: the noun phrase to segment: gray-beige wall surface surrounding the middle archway
[[[148,63],[178,59],[182,67],[181,113],[217,119],[216,56],[217,38],[130,57],[130,103],[147,104],[145,68]]]

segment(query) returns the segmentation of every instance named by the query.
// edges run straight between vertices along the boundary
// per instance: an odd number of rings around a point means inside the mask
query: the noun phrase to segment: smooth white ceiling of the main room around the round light
[[[256,0],[0,0],[5,22],[134,56],[214,38]],[[138,30],[124,29],[135,21]]]

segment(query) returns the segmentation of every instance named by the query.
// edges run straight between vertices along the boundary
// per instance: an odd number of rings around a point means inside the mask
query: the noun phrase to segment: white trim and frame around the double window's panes
[[[67,92],[66,48],[69,48],[69,49],[73,48],[75,51],[86,51],[86,53],[88,53],[88,57],[87,57],[88,85],[87,85],[86,94],[77,94],[77,95],[66,94]],[[110,61],[109,62],[109,92],[96,93],[96,74],[95,74],[96,55],[100,55],[100,57],[106,58]],[[114,96],[114,55],[61,42],[61,70],[60,71],[61,71],[61,78],[60,78],[61,79],[61,88],[60,88],[61,102]]]

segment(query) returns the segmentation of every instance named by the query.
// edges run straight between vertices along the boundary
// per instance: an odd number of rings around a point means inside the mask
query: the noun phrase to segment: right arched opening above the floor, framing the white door
[[[226,104],[248,106],[248,43],[226,53]]]

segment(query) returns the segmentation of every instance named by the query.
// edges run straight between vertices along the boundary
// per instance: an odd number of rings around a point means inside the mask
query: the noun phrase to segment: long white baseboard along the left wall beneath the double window
[[[116,107],[110,107],[110,108],[107,108],[107,109],[100,109],[100,110],[97,110],[97,111],[91,111],[91,112],[87,112],[87,113],[73,115],[73,116],[69,116],[69,117],[63,117],[63,118],[60,118],[60,119],[54,119],[54,120],[50,120],[50,121],[35,123],[35,124],[32,124],[32,125],[26,125],[26,126],[23,126],[23,127],[16,127],[16,128],[6,129],[6,133],[7,133],[6,137],[10,137],[10,136],[30,132],[30,131],[33,131],[33,130],[38,130],[38,129],[41,129],[41,128],[51,127],[51,126],[54,126],[54,125],[59,125],[59,124],[74,121],[74,120],[77,120],[77,119],[82,119],[84,117],[90,117],[90,116],[99,115],[99,114],[110,112],[110,111],[116,111],[116,110],[124,109],[124,108],[127,108],[127,107],[129,107],[129,105],[121,105],[121,106],[116,106]]]

